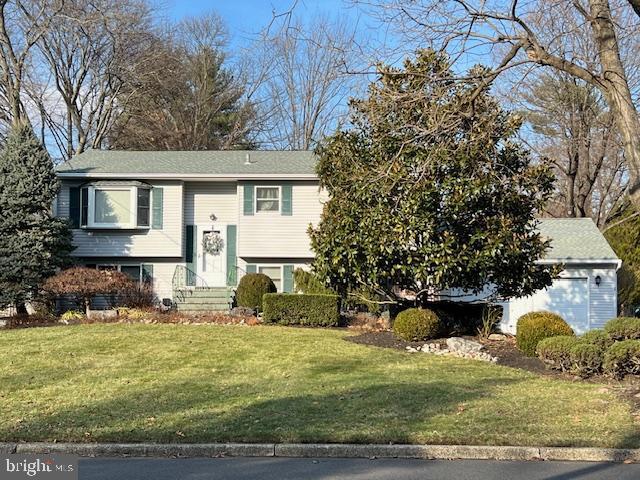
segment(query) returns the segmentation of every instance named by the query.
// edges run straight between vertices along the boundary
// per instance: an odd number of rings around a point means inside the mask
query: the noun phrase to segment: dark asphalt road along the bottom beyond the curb
[[[640,464],[307,458],[82,459],[80,480],[626,480]]]

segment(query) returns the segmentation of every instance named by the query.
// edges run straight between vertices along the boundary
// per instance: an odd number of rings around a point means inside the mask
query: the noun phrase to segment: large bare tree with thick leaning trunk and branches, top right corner
[[[640,119],[633,103],[624,44],[637,35],[632,0],[388,0],[373,3],[411,41],[427,41],[465,62],[497,58],[493,81],[515,66],[535,64],[565,72],[597,88],[620,133],[629,194],[640,205]],[[588,29],[596,55],[574,48]],[[558,34],[560,32],[560,34]]]

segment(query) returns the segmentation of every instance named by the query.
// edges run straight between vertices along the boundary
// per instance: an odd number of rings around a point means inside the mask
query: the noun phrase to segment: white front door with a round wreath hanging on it
[[[198,287],[224,287],[227,284],[227,229],[224,225],[198,225]]]

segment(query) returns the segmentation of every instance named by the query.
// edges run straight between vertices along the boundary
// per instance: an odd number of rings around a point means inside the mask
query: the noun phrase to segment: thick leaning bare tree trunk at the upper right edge
[[[603,90],[616,118],[629,168],[629,196],[640,207],[640,119],[633,105],[608,0],[590,0],[591,26],[598,46]]]

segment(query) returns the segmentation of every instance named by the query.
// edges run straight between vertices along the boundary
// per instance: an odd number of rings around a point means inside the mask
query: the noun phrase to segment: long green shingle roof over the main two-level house
[[[78,178],[317,178],[310,151],[88,150],[59,165]]]

